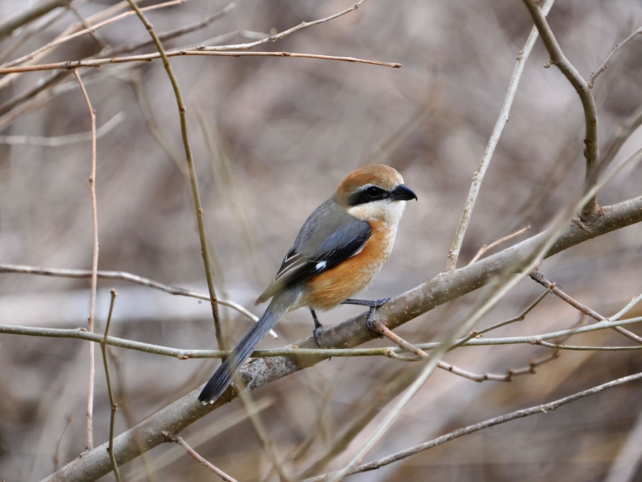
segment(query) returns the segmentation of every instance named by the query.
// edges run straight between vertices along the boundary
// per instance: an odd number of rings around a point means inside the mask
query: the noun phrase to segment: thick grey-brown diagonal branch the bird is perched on
[[[571,222],[546,256],[552,256],[589,239],[641,221],[642,196],[601,208],[600,215],[581,228],[577,223]],[[546,239],[546,236],[546,232],[540,233],[472,265],[440,273],[432,280],[388,301],[386,305],[377,309],[377,315],[385,321],[388,328],[392,329],[403,325],[438,305],[487,285],[494,275],[503,272],[513,263],[525,262],[532,256],[542,240]],[[318,337],[324,348],[350,348],[371,339],[374,339],[374,335],[366,326],[365,313],[325,330]],[[312,337],[301,340],[294,345],[300,348],[315,348],[316,346]],[[302,370],[318,361],[320,360],[309,358],[299,360],[295,357],[253,359],[243,365],[239,375],[247,384],[248,389],[255,389]],[[230,388],[215,404],[203,406],[197,400],[199,391],[200,388],[191,391],[185,397],[150,416],[136,427],[119,435],[114,440],[117,462],[123,464],[139,456],[141,452],[166,442],[167,439],[162,434],[163,431],[169,434],[178,434],[202,416],[236,397],[233,388]],[[93,481],[109,471],[107,445],[104,445],[83,454],[82,458],[71,461],[58,472],[46,478],[45,481],[62,482],[81,477],[84,481]]]

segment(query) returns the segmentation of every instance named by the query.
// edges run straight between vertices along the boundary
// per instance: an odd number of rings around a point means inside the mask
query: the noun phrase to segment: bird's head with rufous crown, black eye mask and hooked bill
[[[401,174],[392,167],[372,164],[345,176],[334,198],[357,219],[397,224],[406,201],[417,199],[417,195],[406,187]]]

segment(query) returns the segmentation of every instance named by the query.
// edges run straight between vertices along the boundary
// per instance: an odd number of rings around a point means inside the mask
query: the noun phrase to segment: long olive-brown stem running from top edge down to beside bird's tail
[[[183,103],[183,96],[180,93],[180,87],[178,87],[178,80],[174,75],[174,71],[169,65],[169,59],[165,53],[165,49],[160,43],[156,31],[154,30],[152,24],[148,21],[145,14],[141,12],[141,9],[138,8],[138,5],[134,0],[127,0],[132,10],[136,12],[138,18],[141,19],[143,25],[150,33],[150,36],[153,39],[153,42],[156,48],[159,51],[160,57],[162,57],[163,66],[169,77],[169,82],[174,90],[174,96],[176,97],[176,103],[178,107],[178,117],[180,118],[180,132],[182,134],[183,146],[185,148],[185,159],[187,161],[187,168],[189,169],[189,180],[191,182],[192,196],[194,198],[194,206],[196,210],[196,223],[198,224],[198,236],[200,238],[201,244],[201,255],[203,257],[203,264],[205,267],[205,278],[207,278],[207,289],[209,290],[209,300],[212,307],[212,315],[214,317],[214,330],[216,330],[216,343],[218,343],[218,348],[220,350],[225,350],[225,338],[223,337],[223,328],[221,328],[221,319],[218,313],[218,300],[216,299],[216,290],[214,290],[214,276],[212,274],[212,265],[209,260],[209,247],[207,246],[207,235],[205,234],[205,221],[203,219],[203,208],[200,202],[200,195],[198,194],[198,183],[196,182],[196,170],[194,168],[194,157],[192,156],[192,148],[189,144],[189,133],[187,130],[187,108]]]

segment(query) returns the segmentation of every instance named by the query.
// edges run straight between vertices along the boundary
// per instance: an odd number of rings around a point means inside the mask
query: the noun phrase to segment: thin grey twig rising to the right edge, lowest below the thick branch
[[[580,400],[580,398],[589,397],[590,395],[595,395],[596,393],[600,393],[601,391],[607,390],[609,388],[620,386],[625,383],[632,382],[634,380],[638,380],[641,378],[642,378],[642,373],[636,373],[635,375],[629,375],[628,377],[612,380],[611,382],[607,382],[605,384],[580,391],[573,395],[569,395],[568,397],[560,398],[559,400],[555,400],[554,402],[549,402],[548,404],[537,405],[534,407],[507,413],[505,415],[496,416],[494,418],[490,418],[489,420],[485,420],[484,422],[480,422],[479,424],[469,425],[467,427],[463,427],[461,429],[455,430],[446,435],[442,435],[440,437],[434,438],[433,440],[429,440],[428,442],[415,445],[414,447],[410,447],[409,449],[405,449],[403,451],[381,458],[377,461],[359,465],[358,467],[354,467],[354,469],[350,470],[350,472],[348,472],[348,474],[346,475],[359,474],[361,472],[368,472],[369,470],[379,469],[393,462],[410,457],[411,455],[419,454],[420,452],[427,451],[428,449],[432,449],[433,447],[437,447],[437,445],[442,445],[442,443],[455,440],[455,438],[459,438],[464,435],[468,435],[483,429],[487,429],[489,427],[494,427],[494,425],[505,424],[506,422],[510,422],[511,420],[516,420],[517,418],[523,418],[525,416],[530,416],[530,415],[537,415],[538,413],[548,413],[550,411],[557,409],[558,407],[569,404],[571,402],[575,402],[576,400]],[[331,472],[330,474],[324,474],[322,476],[305,479],[304,482],[326,481],[331,479],[336,473],[337,472]]]

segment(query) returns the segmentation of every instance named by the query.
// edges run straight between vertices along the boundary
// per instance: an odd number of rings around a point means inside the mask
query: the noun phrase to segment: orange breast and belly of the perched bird
[[[330,310],[369,285],[390,256],[397,231],[383,221],[370,222],[370,227],[372,236],[361,253],[304,283],[301,305]]]

